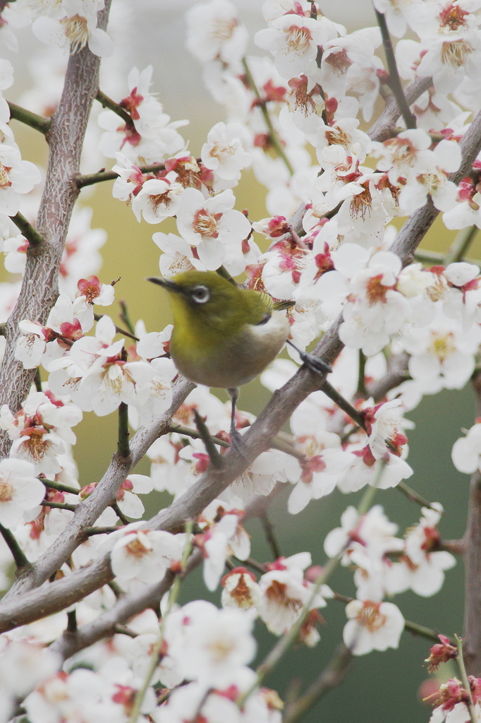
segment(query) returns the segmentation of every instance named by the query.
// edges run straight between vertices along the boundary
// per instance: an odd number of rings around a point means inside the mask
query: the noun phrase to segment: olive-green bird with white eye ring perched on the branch
[[[274,302],[265,291],[237,286],[215,271],[188,270],[170,278],[147,281],[168,292],[173,312],[170,357],[191,382],[228,391],[232,408],[230,439],[241,448],[235,426],[239,387],[251,382],[275,359],[285,343],[316,373],[332,371],[329,364],[300,351],[287,337],[285,309],[294,301]]]

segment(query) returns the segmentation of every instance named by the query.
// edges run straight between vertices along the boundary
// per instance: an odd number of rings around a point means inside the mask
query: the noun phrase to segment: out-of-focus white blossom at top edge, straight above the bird
[[[232,2],[210,0],[196,4],[186,13],[186,20],[186,46],[203,63],[220,60],[229,65],[246,54],[248,33]]]

